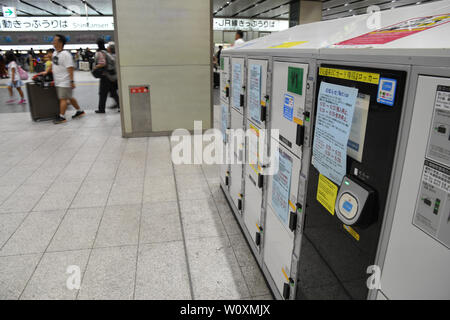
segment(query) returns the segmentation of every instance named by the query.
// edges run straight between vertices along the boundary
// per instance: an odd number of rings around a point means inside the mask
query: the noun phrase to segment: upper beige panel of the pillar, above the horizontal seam
[[[209,64],[210,14],[205,0],[116,0],[120,64]]]

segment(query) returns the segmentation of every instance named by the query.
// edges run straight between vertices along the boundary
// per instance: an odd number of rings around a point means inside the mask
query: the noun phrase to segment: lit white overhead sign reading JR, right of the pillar
[[[214,18],[214,30],[217,31],[266,31],[277,32],[289,29],[287,20],[265,20],[265,19],[233,19]]]

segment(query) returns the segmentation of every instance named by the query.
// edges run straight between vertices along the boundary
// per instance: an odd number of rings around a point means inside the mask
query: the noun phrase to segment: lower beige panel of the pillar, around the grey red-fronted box
[[[210,66],[122,67],[124,109],[130,110],[128,87],[149,84],[152,132],[192,130],[194,121],[203,121],[203,128],[209,129],[210,70]],[[126,132],[130,133],[131,117],[124,120]]]

